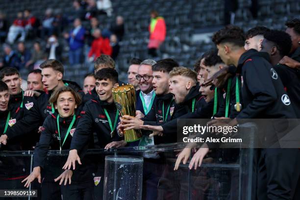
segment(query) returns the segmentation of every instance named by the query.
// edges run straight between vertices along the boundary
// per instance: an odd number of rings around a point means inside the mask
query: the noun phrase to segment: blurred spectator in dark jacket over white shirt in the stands
[[[48,59],[56,59],[61,61],[62,47],[59,45],[57,37],[54,34],[48,38],[46,53]]]

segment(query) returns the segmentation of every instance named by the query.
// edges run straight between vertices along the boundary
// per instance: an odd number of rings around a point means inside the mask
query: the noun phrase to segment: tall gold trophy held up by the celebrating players
[[[135,116],[135,89],[133,85],[127,84],[122,86],[117,86],[112,89],[113,98],[117,109],[119,110],[121,116],[129,115]],[[141,130],[125,130],[124,137],[126,142],[134,142],[142,137]]]

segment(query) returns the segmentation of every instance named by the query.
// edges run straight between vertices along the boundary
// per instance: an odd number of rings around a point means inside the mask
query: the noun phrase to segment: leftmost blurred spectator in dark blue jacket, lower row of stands
[[[19,56],[11,49],[7,44],[3,45],[4,57],[2,63],[0,63],[0,69],[3,67],[14,67],[20,69],[21,60]]]

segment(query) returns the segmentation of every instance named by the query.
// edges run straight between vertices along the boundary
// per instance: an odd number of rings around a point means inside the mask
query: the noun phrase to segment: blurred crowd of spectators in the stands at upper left
[[[37,69],[47,59],[58,59],[70,65],[92,63],[101,54],[114,60],[124,36],[124,19],[103,27],[98,17],[112,16],[110,0],[74,0],[74,12],[67,16],[60,8],[48,8],[41,19],[30,9],[18,12],[10,24],[0,12],[0,68]],[[84,23],[83,21],[87,22]],[[33,41],[28,42],[27,41]],[[67,45],[66,45],[67,44]],[[68,51],[64,56],[63,52]],[[69,59],[68,59],[69,57]]]

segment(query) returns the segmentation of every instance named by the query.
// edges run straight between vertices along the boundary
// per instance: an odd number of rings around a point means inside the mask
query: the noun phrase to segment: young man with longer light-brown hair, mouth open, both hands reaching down
[[[95,171],[91,165],[87,165],[87,160],[85,165],[72,172],[61,169],[64,157],[55,156],[51,160],[47,159],[49,149],[69,150],[78,118],[80,118],[79,115],[75,115],[75,109],[81,103],[81,97],[70,87],[63,86],[53,93],[50,102],[54,104],[57,112],[49,115],[43,123],[40,141],[34,149],[33,171],[22,182],[26,181],[25,187],[29,187],[30,183],[38,178],[41,183],[39,198],[42,200],[61,199],[61,195],[64,199],[93,199],[92,174]],[[42,177],[43,180],[41,180]],[[61,180],[60,184],[56,182],[58,180]],[[64,186],[61,185],[63,181],[65,181]],[[68,185],[66,185],[67,181]]]

